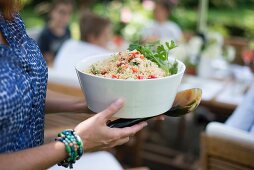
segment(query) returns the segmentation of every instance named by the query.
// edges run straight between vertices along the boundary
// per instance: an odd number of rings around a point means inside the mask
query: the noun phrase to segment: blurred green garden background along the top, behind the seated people
[[[22,0],[24,8],[21,15],[27,28],[42,27],[45,23],[49,0]],[[145,2],[145,1],[144,1]],[[198,22],[197,0],[172,0],[175,7],[171,19],[185,32],[195,32]],[[90,8],[92,11],[107,16],[114,23],[114,32],[127,40],[136,40],[143,24],[152,18],[149,3],[140,0],[90,0],[76,1],[76,7]],[[77,8],[76,8],[77,9]],[[209,0],[208,29],[218,31],[224,37],[239,36],[254,39],[254,0]],[[130,13],[129,18],[121,14]],[[43,16],[43,17],[42,17]],[[74,38],[78,38],[77,10],[71,22]]]

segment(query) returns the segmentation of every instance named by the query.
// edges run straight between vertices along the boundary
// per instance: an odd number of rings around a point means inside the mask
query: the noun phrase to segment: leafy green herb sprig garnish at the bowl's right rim
[[[178,71],[178,63],[170,63],[168,61],[168,52],[175,48],[175,42],[166,42],[165,45],[154,43],[154,44],[130,44],[128,50],[137,50],[143,54],[148,60],[151,60],[158,64],[158,66],[166,72],[166,75],[176,74]]]

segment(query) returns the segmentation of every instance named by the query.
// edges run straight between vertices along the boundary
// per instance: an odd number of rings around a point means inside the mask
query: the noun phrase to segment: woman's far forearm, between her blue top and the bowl
[[[45,111],[46,113],[91,112],[87,108],[85,99],[56,93],[50,90],[47,91]]]

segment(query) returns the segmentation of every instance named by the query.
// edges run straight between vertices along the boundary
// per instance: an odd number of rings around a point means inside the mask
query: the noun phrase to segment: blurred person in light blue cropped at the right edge
[[[254,134],[254,83],[225,124]]]

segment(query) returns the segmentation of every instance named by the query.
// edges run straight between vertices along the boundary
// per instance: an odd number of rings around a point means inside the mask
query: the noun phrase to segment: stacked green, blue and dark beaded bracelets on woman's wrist
[[[76,135],[74,130],[71,129],[58,133],[58,137],[55,140],[64,143],[66,152],[68,153],[68,157],[58,163],[58,165],[72,169],[73,164],[76,160],[79,160],[83,154],[82,140],[78,135]]]

